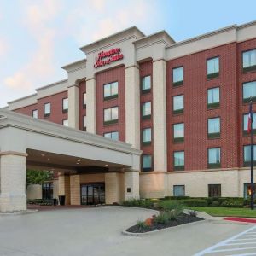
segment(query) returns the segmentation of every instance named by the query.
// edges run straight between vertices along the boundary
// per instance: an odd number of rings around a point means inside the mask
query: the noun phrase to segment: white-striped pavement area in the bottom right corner
[[[236,236],[232,236],[224,241],[209,247],[199,253],[195,253],[194,256],[211,255],[215,253],[224,253],[229,256],[256,256],[256,226],[245,230]],[[253,252],[252,252],[253,250]],[[251,252],[250,252],[251,251]]]

